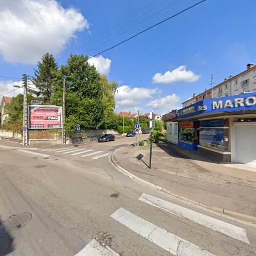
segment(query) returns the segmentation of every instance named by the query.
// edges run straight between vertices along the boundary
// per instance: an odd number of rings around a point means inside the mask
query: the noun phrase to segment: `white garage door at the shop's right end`
[[[256,123],[235,123],[235,162],[256,165]]]

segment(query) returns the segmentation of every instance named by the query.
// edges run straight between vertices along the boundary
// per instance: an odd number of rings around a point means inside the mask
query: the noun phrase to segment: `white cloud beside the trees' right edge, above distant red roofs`
[[[150,99],[153,95],[159,93],[159,89],[131,88],[130,86],[120,86],[116,92],[116,108],[134,108],[144,99]]]

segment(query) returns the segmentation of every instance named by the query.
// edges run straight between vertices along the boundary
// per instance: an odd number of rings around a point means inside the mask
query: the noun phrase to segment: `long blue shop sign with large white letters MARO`
[[[256,93],[201,100],[180,109],[178,119],[202,113],[218,113],[228,111],[256,110]]]

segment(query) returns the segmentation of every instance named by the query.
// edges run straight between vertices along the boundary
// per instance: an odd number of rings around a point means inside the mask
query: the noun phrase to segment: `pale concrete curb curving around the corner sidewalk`
[[[204,210],[204,211],[211,212],[212,214],[215,214],[215,215],[218,215],[218,216],[221,216],[221,217],[224,217],[224,218],[228,218],[230,220],[237,221],[237,222],[240,222],[240,223],[245,224],[245,225],[256,227],[256,217],[254,217],[254,216],[241,214],[239,212],[227,210],[227,209],[224,209],[224,208],[218,208],[218,207],[207,205],[205,203],[198,202],[198,201],[186,198],[186,197],[179,196],[177,194],[172,193],[172,191],[169,191],[169,190],[167,190],[167,189],[165,189],[161,186],[155,185],[151,182],[145,181],[145,180],[131,174],[126,169],[124,169],[123,167],[118,165],[117,162],[114,159],[114,154],[118,150],[121,150],[121,148],[126,147],[126,146],[127,145],[122,146],[120,148],[117,148],[115,151],[113,151],[109,154],[110,163],[123,175],[130,177],[132,180],[136,181],[137,183],[140,183],[140,184],[146,185],[148,187],[151,187],[153,189],[162,191],[163,193],[167,194],[168,196],[170,196],[170,197],[172,197],[176,200],[180,200],[183,203],[185,202],[186,204],[189,204],[191,206],[194,206],[194,207],[199,208],[199,209]],[[128,145],[128,146],[130,146],[130,145]]]

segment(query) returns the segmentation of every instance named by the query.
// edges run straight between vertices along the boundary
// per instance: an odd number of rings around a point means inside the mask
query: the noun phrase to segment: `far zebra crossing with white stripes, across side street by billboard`
[[[33,154],[37,156],[42,157],[50,157],[52,153],[57,153],[59,155],[63,155],[66,157],[81,157],[81,158],[90,158],[92,160],[100,159],[102,157],[106,157],[110,154],[110,152],[104,152],[99,150],[94,150],[91,148],[75,148],[75,147],[69,147],[69,148],[43,148],[39,149],[40,152],[34,152],[34,151],[28,151],[28,150],[19,150],[24,153]]]

